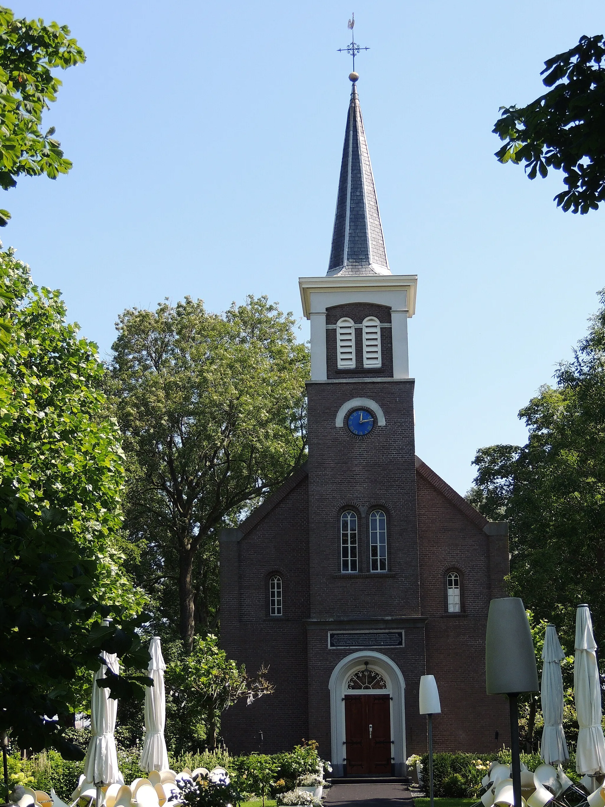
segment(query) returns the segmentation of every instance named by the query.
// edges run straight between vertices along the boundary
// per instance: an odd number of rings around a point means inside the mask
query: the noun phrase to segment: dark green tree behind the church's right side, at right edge
[[[605,639],[605,291],[599,296],[574,360],[519,412],[527,444],[478,451],[470,495],[487,517],[510,522],[511,594],[557,625],[568,652],[578,603],[590,604],[597,642]]]

